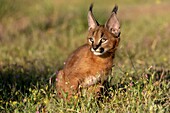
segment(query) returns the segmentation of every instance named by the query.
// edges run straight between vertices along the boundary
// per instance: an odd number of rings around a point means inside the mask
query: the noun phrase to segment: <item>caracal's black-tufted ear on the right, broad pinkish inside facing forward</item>
[[[112,14],[110,18],[107,20],[105,23],[105,27],[113,33],[116,37],[120,36],[120,23],[117,19],[117,11],[118,11],[118,6],[115,5],[115,7],[112,10]]]

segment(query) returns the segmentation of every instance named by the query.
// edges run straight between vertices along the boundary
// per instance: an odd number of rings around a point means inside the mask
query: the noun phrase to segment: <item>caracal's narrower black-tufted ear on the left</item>
[[[92,9],[93,9],[93,4],[90,5],[89,12],[88,12],[88,17],[87,17],[88,18],[89,30],[94,29],[96,26],[99,25],[99,23],[96,21],[96,19],[93,16]]]

